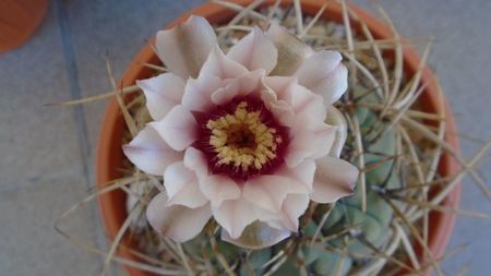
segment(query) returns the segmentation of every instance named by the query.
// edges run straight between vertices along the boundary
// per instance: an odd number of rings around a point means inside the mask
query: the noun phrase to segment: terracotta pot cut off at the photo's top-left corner
[[[25,43],[43,22],[48,0],[0,1],[0,53]]]

